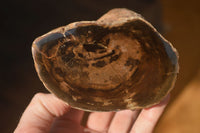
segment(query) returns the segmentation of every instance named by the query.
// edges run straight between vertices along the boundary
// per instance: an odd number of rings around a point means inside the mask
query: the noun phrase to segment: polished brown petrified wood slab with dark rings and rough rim
[[[52,30],[33,42],[32,53],[45,87],[88,111],[157,104],[172,90],[178,73],[173,46],[127,9]]]

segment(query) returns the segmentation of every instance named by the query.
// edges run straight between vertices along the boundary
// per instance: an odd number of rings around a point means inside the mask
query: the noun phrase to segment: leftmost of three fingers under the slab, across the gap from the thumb
[[[93,112],[89,115],[87,127],[99,132],[106,132],[114,112]]]

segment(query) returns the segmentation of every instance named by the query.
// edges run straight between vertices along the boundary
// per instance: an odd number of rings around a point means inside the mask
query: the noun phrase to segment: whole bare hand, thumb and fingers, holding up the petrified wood
[[[93,112],[83,127],[80,123],[84,111],[71,108],[52,94],[38,93],[14,133],[152,133],[168,101],[169,96],[142,110]]]

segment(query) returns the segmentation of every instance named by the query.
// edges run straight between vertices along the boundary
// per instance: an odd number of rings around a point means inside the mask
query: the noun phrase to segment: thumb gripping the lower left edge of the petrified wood
[[[36,94],[15,130],[15,133],[48,132],[55,117],[62,116],[70,109],[64,102],[52,94]]]

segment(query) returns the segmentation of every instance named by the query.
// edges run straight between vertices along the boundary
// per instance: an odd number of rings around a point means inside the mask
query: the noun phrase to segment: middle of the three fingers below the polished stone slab
[[[119,111],[115,114],[108,132],[109,133],[128,133],[132,124],[137,118],[139,111]]]

